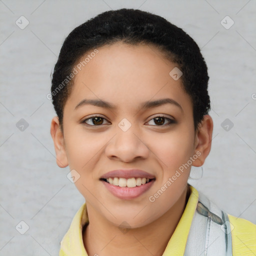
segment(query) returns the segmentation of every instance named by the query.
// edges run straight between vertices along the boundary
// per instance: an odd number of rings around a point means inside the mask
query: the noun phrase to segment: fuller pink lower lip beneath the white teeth
[[[109,184],[106,181],[102,180],[103,184],[113,195],[115,195],[120,199],[125,199],[125,200],[131,200],[140,196],[142,193],[144,193],[151,187],[154,181],[155,179],[152,179],[150,182],[139,185],[139,186],[121,187],[121,186],[115,186],[115,185]]]

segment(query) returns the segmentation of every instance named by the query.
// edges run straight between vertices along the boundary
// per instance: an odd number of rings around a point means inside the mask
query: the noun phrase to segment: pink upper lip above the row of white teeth
[[[100,178],[110,178],[110,177],[118,177],[118,178],[155,178],[154,175],[140,169],[116,169],[111,170],[103,174]]]

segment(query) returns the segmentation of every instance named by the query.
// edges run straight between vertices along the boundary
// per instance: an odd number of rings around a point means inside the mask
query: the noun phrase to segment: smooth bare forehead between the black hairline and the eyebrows
[[[153,45],[121,42],[86,52],[77,61],[73,89],[67,101],[75,108],[83,98],[105,99],[114,105],[171,97],[189,101],[181,79],[169,72],[176,67]],[[188,102],[191,106],[191,102]]]

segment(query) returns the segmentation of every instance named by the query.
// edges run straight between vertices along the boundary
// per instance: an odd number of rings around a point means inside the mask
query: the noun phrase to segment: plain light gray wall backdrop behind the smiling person
[[[50,73],[74,27],[123,7],[161,15],[198,43],[214,128],[203,176],[189,182],[229,214],[256,223],[254,0],[0,0],[0,255],[58,255],[84,198],[67,179],[68,166],[56,165]],[[21,15],[29,21],[24,29],[15,24]],[[226,15],[234,21],[229,29],[220,23]],[[16,126],[21,118],[28,123],[23,131]],[[221,126],[226,118],[234,124],[228,131]],[[21,220],[29,226],[23,235],[15,228]]]

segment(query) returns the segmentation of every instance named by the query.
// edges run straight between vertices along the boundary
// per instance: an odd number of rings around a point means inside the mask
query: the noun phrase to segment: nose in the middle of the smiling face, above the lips
[[[143,141],[141,132],[132,127],[133,125],[126,131],[116,127],[116,134],[105,147],[108,158],[132,162],[135,158],[145,159],[148,157],[149,149],[146,141]]]

